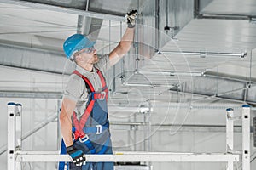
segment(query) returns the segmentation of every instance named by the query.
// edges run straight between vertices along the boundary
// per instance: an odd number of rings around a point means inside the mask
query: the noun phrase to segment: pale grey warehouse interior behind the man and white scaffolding
[[[75,68],[63,42],[81,33],[96,41],[97,54],[108,54],[131,9],[139,14],[131,50],[105,75],[113,150],[229,155],[229,118],[249,118],[252,137],[255,0],[0,0],[0,133],[10,136],[6,104],[20,103],[22,150],[59,150],[61,99]],[[241,116],[244,104],[252,106],[251,117]],[[244,149],[243,123],[234,122],[234,154]],[[253,138],[247,142],[250,153],[241,152],[250,154],[255,169],[256,144]],[[2,138],[1,169],[7,169],[7,150],[8,138]],[[139,169],[227,168],[220,162],[141,163]],[[241,169],[241,161],[234,166]]]

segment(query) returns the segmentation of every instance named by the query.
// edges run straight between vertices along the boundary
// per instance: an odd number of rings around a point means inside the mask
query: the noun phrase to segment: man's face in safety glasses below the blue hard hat
[[[94,47],[84,48],[74,54],[77,62],[82,62],[81,64],[96,64],[98,62],[98,56],[96,54],[96,49]]]

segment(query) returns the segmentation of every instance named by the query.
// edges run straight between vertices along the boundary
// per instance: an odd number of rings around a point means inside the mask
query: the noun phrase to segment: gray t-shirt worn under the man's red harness
[[[94,65],[92,71],[86,71],[79,65],[77,65],[76,71],[79,71],[79,73],[84,75],[84,77],[87,77],[92,86],[95,88],[95,91],[100,92],[102,90],[102,82],[96,73],[95,67],[102,71],[102,74],[105,77],[108,69],[110,68],[109,55],[103,55]],[[77,113],[78,119],[80,119],[84,114],[84,110],[88,102],[88,92],[84,80],[78,75],[72,74],[68,78],[63,98],[72,99],[77,103],[74,111]]]

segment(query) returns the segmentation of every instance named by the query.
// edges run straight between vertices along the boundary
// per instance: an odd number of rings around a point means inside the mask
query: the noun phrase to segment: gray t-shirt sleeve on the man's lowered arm
[[[84,88],[84,80],[81,77],[73,74],[67,81],[67,86],[65,88],[63,97],[77,102],[81,98]]]

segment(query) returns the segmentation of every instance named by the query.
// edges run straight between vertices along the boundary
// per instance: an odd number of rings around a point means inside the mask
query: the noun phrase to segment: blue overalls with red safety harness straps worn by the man
[[[73,138],[74,145],[79,150],[83,150],[84,154],[113,154],[112,144],[109,133],[108,122],[108,88],[102,72],[96,69],[98,76],[102,82],[102,91],[95,92],[92,84],[87,77],[84,77],[79,71],[74,71],[83,78],[87,91],[88,103],[80,121],[77,119],[76,113],[73,112]],[[62,142],[61,145],[64,143]],[[62,149],[63,146],[61,146]],[[61,149],[61,150],[62,150]],[[65,150],[62,150],[65,154]],[[59,165],[59,170],[63,167],[63,162]],[[77,167],[73,162],[69,162],[70,170],[113,170],[113,162],[86,162],[82,167]]]

